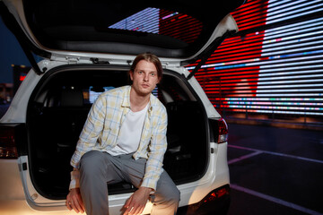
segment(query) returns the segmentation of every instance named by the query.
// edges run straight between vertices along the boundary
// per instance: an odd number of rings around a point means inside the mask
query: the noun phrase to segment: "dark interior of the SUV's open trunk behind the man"
[[[128,84],[127,66],[68,65],[49,71],[31,95],[27,113],[31,180],[49,199],[65,199],[74,153],[93,101]],[[208,162],[207,117],[181,75],[165,70],[153,94],[167,108],[168,150],[164,168],[177,185],[204,175]],[[109,194],[127,193],[127,184],[109,185]]]

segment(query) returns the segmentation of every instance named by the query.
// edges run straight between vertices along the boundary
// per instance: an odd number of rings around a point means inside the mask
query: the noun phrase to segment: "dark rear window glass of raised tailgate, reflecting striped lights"
[[[158,56],[195,54],[241,0],[207,2],[23,1],[27,22],[48,48]]]

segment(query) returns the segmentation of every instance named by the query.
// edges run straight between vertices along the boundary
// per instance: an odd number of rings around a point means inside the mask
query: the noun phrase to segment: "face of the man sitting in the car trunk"
[[[133,89],[140,96],[150,94],[159,82],[156,66],[145,60],[136,64],[135,71],[130,71],[130,78]]]

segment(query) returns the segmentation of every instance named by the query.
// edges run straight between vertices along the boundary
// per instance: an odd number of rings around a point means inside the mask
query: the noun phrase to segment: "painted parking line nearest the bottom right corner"
[[[304,208],[304,207],[302,207],[302,206],[300,206],[298,204],[294,204],[292,202],[287,202],[287,201],[284,201],[282,199],[278,199],[278,198],[275,198],[273,196],[266,195],[264,193],[258,193],[257,191],[250,190],[250,189],[242,187],[240,185],[231,184],[230,186],[231,186],[232,189],[238,190],[240,192],[249,193],[251,195],[255,195],[255,196],[259,197],[259,198],[265,199],[265,200],[270,201],[270,202],[275,202],[275,203],[284,205],[284,206],[286,206],[288,208],[292,208],[292,209],[297,210],[297,211],[305,212],[305,213],[308,213],[308,214],[311,214],[311,215],[323,215],[323,213],[320,213],[318,211],[313,211],[313,210],[310,210],[308,208]]]

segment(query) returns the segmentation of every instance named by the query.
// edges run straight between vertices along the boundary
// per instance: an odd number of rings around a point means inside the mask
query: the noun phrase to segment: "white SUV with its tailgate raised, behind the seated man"
[[[65,207],[69,161],[88,111],[102,91],[127,84],[129,65],[143,52],[159,56],[164,69],[153,93],[168,111],[164,168],[181,193],[178,214],[225,214],[228,129],[193,74],[238,30],[227,14],[242,3],[0,1],[32,65],[0,120],[0,214],[74,213]],[[183,65],[196,59],[189,73]],[[110,214],[133,191],[109,186]],[[150,209],[147,203],[144,213]]]

